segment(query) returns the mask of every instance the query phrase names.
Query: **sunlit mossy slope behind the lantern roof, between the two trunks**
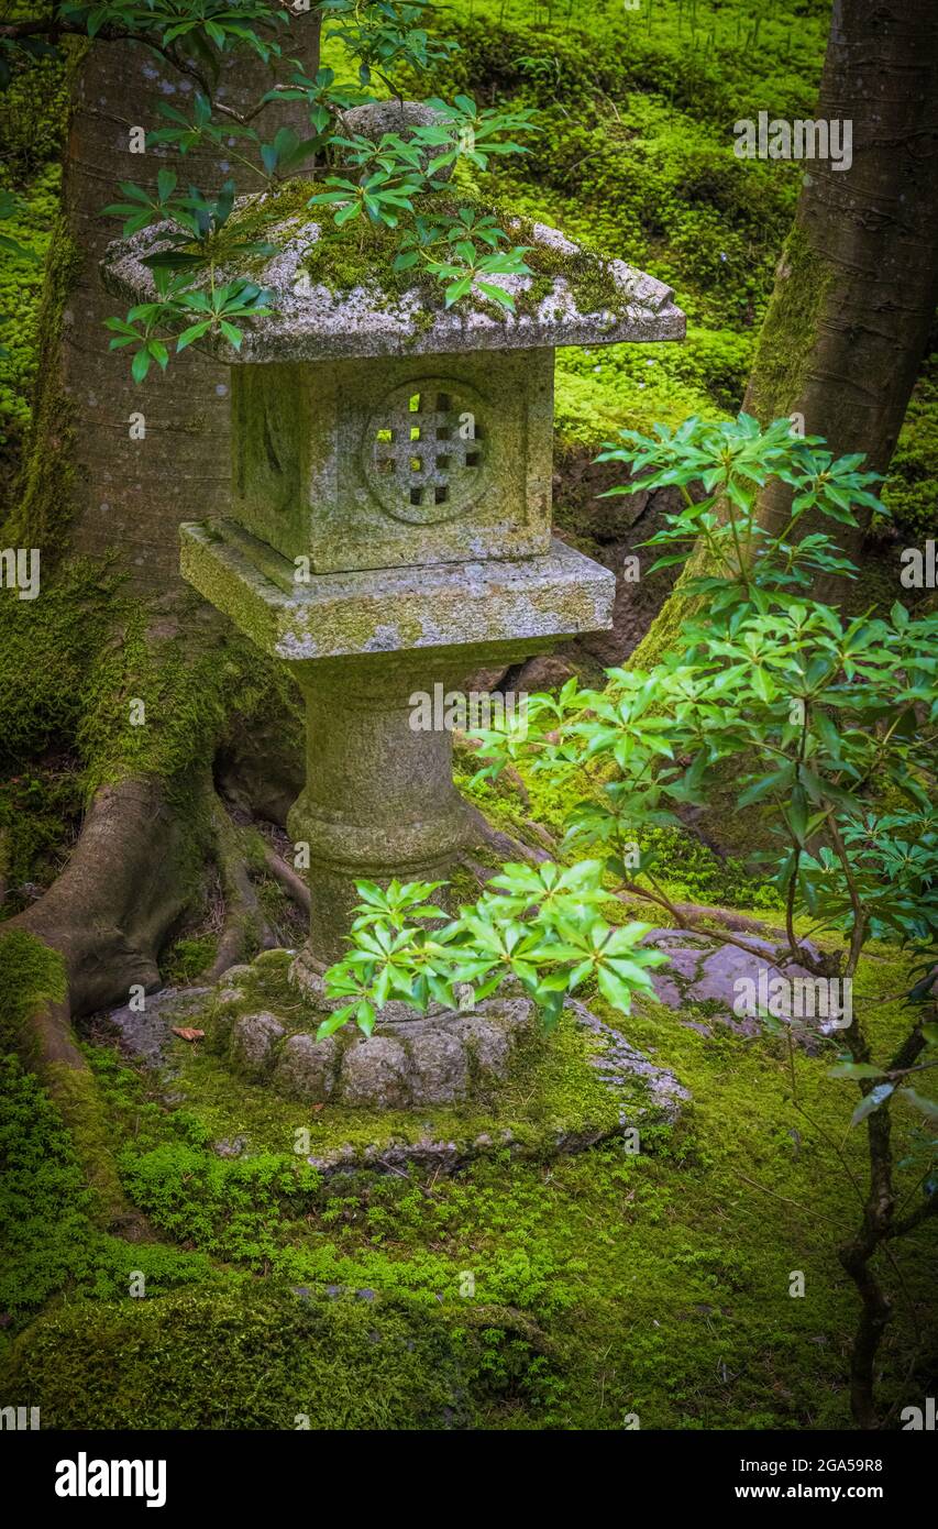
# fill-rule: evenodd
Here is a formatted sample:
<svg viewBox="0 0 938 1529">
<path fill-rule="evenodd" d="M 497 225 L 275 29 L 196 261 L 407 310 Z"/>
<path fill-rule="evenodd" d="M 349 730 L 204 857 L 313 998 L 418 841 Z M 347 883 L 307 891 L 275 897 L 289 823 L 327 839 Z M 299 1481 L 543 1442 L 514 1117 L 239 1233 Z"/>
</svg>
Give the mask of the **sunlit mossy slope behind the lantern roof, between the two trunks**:
<svg viewBox="0 0 938 1529">
<path fill-rule="evenodd" d="M 437 93 L 539 112 L 530 153 L 492 161 L 486 194 L 668 281 L 689 317 L 681 346 L 558 356 L 558 434 L 587 446 L 622 425 L 736 411 L 799 168 L 736 159 L 729 124 L 753 99 L 808 115 L 828 28 L 819 8 L 797 28 L 762 17 L 753 49 L 749 24 L 707 0 L 651 11 L 551 24 L 529 5 L 509 15 L 483 0 L 446 18 L 460 52 L 434 76 Z"/>
</svg>

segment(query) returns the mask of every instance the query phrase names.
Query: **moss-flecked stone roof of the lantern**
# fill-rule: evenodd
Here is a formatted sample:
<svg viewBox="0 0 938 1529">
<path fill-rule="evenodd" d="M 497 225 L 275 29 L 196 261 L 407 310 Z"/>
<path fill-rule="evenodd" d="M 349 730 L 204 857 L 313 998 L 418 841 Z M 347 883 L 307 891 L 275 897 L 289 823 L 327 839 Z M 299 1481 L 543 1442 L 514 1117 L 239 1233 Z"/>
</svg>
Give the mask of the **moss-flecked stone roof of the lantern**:
<svg viewBox="0 0 938 1529">
<path fill-rule="evenodd" d="M 290 182 L 244 197 L 218 235 L 215 280 L 247 275 L 270 294 L 273 309 L 249 324 L 240 352 L 222 335 L 208 335 L 202 349 L 218 359 L 318 361 L 683 338 L 684 315 L 665 283 L 582 249 L 556 229 L 449 190 L 417 199 L 416 211 L 495 213 L 509 239 L 527 249 L 532 274 L 490 278 L 512 294 L 513 312 L 478 291 L 446 309 L 445 283 L 431 272 L 394 271 L 400 228 L 361 219 L 342 228 L 316 222 L 309 209 L 313 191 L 309 182 Z M 133 303 L 150 300 L 145 260 L 165 234 L 162 225 L 112 245 L 102 261 L 107 287 Z M 226 249 L 261 237 L 277 246 L 273 257 L 226 260 Z"/>
</svg>

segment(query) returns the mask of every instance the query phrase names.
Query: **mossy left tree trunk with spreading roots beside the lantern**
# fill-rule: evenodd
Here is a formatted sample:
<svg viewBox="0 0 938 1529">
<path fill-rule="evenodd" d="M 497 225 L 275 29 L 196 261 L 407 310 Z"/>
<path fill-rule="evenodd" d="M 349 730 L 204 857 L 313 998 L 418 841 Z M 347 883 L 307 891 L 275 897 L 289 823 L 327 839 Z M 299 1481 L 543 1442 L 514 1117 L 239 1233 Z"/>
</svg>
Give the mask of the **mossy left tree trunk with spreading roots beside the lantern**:
<svg viewBox="0 0 938 1529">
<path fill-rule="evenodd" d="M 309 75 L 318 69 L 319 26 L 321 15 L 312 12 L 296 17 L 290 29 L 287 52 Z M 220 774 L 235 794 L 243 797 L 246 783 L 261 781 L 258 812 L 264 813 L 270 800 L 289 801 L 290 786 L 292 795 L 299 789 L 301 732 L 275 729 L 264 768 L 258 754 L 269 737 L 261 729 L 254 740 L 231 722 L 235 708 L 243 708 L 246 687 L 263 691 L 264 665 L 240 651 L 214 612 L 192 612 L 194 596 L 179 576 L 179 523 L 226 505 L 228 368 L 192 349 L 174 358 L 165 378 L 154 368 L 134 387 L 127 355 L 108 350 L 104 320 L 116 307 L 98 277 L 107 243 L 119 235 L 119 223 L 101 209 L 119 199 L 121 180 L 151 188 L 160 167 L 173 164 L 183 183 L 188 179 L 212 191 L 234 167 L 196 153 L 180 165 L 176 157 L 130 151 L 131 128 L 163 124 L 160 101 L 185 109 L 196 93 L 192 80 L 151 49 L 127 41 L 81 44 L 70 60 L 70 80 L 63 203 L 46 274 L 32 428 L 3 544 L 41 549 L 40 604 L 50 598 L 53 569 L 63 576 L 70 564 L 99 566 L 101 578 L 105 570 L 122 575 L 122 592 L 110 630 L 86 664 L 89 694 L 98 685 L 87 705 L 107 716 L 107 725 L 98 737 L 96 719 L 86 716 L 72 739 L 90 786 L 81 833 L 49 891 L 3 928 L 0 985 L 20 982 L 9 968 L 15 940 L 37 940 L 57 953 L 63 992 L 50 998 L 41 985 L 32 991 L 26 983 L 17 1044 L 53 1087 L 79 1148 L 89 1144 L 82 1150 L 89 1179 L 107 1183 L 102 1205 L 113 1219 L 119 1190 L 113 1167 L 102 1177 L 99 1104 L 72 1021 L 127 1003 L 133 985 L 147 991 L 160 985 L 160 948 L 197 899 L 206 859 L 214 858 L 223 885 L 244 888 L 232 836 L 220 827 L 212 778 L 218 746 L 226 748 Z M 238 52 L 225 63 L 217 93 L 244 112 L 273 83 L 272 70 Z M 266 109 L 258 119 L 264 136 L 296 110 L 295 104 Z M 306 119 L 296 125 L 309 131 Z M 240 191 L 257 190 L 241 176 L 237 182 Z M 139 431 L 131 436 L 131 413 L 144 416 L 142 439 L 133 437 Z M 189 725 L 185 711 L 192 676 L 208 691 L 200 725 Z M 147 708 L 139 729 L 127 726 L 134 697 Z M 258 709 L 286 716 L 273 683 Z M 238 936 L 241 943 L 247 937 L 264 942 L 264 930 L 254 928 L 257 905 L 243 896 L 238 911 L 238 930 L 226 924 L 231 960 L 240 954 Z"/>
</svg>

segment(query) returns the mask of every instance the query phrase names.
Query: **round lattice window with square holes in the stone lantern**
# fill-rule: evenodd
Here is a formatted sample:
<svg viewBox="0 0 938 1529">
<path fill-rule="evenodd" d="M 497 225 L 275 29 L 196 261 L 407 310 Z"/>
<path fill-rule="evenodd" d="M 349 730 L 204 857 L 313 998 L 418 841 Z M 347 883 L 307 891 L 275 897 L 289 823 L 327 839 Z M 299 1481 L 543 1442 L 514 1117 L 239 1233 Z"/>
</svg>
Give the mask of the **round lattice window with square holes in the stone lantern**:
<svg viewBox="0 0 938 1529">
<path fill-rule="evenodd" d="M 448 505 L 484 460 L 484 430 L 451 393 L 416 391 L 374 431 L 374 468 L 411 506 Z"/>
</svg>

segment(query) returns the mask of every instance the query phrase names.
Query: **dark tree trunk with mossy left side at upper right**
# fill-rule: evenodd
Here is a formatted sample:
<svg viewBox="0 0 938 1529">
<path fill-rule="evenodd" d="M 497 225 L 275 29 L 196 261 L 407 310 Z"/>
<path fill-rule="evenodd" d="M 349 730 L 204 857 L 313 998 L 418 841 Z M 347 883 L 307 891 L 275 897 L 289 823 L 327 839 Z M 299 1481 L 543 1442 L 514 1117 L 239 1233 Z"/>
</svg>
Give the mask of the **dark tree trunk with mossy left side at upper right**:
<svg viewBox="0 0 938 1529">
<path fill-rule="evenodd" d="M 938 303 L 935 0 L 834 0 L 817 118 L 852 122 L 852 164 L 805 164 L 742 407 L 764 425 L 802 414 L 885 472 Z M 773 483 L 765 523 L 788 502 Z M 863 532 L 837 541 L 856 558 Z"/>
</svg>

